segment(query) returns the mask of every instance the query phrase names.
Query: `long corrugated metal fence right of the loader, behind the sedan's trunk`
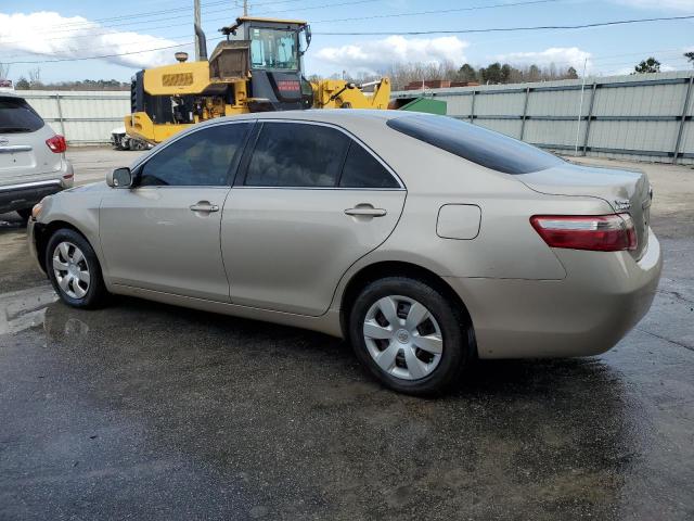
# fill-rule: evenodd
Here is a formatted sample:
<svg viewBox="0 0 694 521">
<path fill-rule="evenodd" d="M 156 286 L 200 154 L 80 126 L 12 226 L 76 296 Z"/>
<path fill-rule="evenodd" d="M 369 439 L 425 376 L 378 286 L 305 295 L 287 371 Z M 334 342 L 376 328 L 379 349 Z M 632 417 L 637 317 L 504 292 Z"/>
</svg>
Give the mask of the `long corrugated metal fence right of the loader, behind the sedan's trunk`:
<svg viewBox="0 0 694 521">
<path fill-rule="evenodd" d="M 571 154 L 694 164 L 694 73 L 433 89 L 448 114 Z M 421 96 L 394 92 L 394 98 Z M 580 117 L 579 117 L 580 114 Z"/>
</svg>

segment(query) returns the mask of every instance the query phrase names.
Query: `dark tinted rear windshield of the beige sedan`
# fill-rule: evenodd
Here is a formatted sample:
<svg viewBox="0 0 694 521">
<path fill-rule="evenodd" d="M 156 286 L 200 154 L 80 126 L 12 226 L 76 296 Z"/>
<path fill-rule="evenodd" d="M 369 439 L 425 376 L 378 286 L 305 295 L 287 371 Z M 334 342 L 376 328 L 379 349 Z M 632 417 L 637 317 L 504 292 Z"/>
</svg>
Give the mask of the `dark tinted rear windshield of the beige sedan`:
<svg viewBox="0 0 694 521">
<path fill-rule="evenodd" d="M 389 119 L 402 134 L 505 174 L 529 174 L 563 163 L 536 147 L 452 117 L 417 114 Z"/>
</svg>

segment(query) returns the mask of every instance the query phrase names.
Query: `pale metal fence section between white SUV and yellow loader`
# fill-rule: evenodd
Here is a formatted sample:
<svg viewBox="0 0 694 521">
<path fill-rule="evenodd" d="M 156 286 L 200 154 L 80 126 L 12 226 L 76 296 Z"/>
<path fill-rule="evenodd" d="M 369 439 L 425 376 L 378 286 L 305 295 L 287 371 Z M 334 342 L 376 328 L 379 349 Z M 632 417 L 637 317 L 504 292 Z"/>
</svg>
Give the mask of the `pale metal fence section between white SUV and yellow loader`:
<svg viewBox="0 0 694 521">
<path fill-rule="evenodd" d="M 99 144 L 130 113 L 127 91 L 17 90 L 69 144 Z"/>
</svg>

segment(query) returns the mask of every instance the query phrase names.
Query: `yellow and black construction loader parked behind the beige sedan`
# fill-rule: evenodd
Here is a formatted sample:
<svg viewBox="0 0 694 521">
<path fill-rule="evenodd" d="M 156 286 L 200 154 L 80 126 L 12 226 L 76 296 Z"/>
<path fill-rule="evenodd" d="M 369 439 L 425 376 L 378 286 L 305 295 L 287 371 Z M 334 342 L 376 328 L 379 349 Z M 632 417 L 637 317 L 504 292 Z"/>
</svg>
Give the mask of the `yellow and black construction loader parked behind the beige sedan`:
<svg viewBox="0 0 694 521">
<path fill-rule="evenodd" d="M 177 52 L 179 63 L 136 74 L 132 113 L 125 117 L 129 136 L 158 143 L 190 125 L 220 116 L 388 106 L 388 78 L 362 86 L 340 79 L 305 78 L 303 55 L 311 42 L 311 28 L 306 22 L 242 16 L 220 31 L 226 40 L 209 59 L 205 34 L 196 23 L 198 61 L 188 61 L 188 53 Z"/>
</svg>

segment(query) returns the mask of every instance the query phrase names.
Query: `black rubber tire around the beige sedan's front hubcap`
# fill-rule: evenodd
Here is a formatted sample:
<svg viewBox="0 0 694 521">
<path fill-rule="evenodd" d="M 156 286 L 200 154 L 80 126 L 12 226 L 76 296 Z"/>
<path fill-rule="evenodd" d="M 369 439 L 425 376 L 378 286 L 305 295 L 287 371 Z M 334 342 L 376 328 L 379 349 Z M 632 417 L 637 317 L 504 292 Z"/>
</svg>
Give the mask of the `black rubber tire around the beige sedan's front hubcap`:
<svg viewBox="0 0 694 521">
<path fill-rule="evenodd" d="M 59 283 L 55 270 L 53 269 L 53 256 L 61 243 L 69 243 L 77 246 L 83 255 L 83 260 L 79 262 L 78 267 L 87 268 L 90 280 L 86 293 L 82 296 L 69 295 Z M 97 254 L 91 247 L 91 244 L 89 244 L 89 241 L 75 230 L 63 228 L 51 236 L 46 247 L 46 271 L 53 284 L 53 289 L 65 304 L 85 309 L 94 309 L 105 304 L 108 292 L 106 291 L 106 285 L 104 284 L 104 279 L 101 274 L 99 258 L 97 258 Z"/>
</svg>

